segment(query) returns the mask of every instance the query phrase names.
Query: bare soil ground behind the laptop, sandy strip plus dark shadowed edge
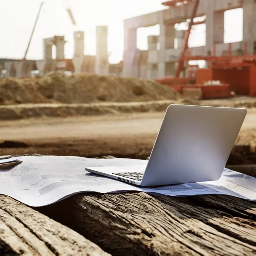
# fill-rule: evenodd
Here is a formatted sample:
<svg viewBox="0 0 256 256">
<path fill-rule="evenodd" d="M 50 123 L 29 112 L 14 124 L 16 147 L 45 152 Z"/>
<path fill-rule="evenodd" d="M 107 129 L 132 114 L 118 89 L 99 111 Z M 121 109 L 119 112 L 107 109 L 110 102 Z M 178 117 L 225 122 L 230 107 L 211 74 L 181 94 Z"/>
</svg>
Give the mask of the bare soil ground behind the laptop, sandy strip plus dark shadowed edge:
<svg viewBox="0 0 256 256">
<path fill-rule="evenodd" d="M 132 113 L 3 121 L 0 123 L 0 155 L 113 155 L 145 159 L 150 155 L 163 114 Z M 249 109 L 228 163 L 256 163 L 255 145 L 256 109 Z"/>
</svg>

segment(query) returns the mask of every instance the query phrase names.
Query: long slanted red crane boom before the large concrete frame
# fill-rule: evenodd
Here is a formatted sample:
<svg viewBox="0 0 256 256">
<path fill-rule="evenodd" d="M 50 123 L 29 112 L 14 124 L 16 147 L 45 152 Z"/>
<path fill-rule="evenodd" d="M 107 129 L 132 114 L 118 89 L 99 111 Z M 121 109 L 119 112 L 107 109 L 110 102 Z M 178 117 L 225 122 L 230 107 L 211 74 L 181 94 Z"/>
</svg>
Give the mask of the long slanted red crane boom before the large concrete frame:
<svg viewBox="0 0 256 256">
<path fill-rule="evenodd" d="M 195 18 L 196 12 L 198 10 L 199 2 L 200 2 L 200 0 L 195 0 L 192 15 L 191 15 L 190 22 L 189 22 L 189 27 L 188 27 L 188 30 L 186 31 L 186 35 L 185 35 L 184 42 L 183 42 L 183 47 L 180 52 L 178 67 L 177 67 L 176 74 L 175 74 L 175 77 L 177 77 L 177 78 L 180 76 L 180 72 L 183 69 L 184 57 L 185 57 L 186 50 L 188 49 L 189 35 L 190 35 L 191 29 L 192 29 L 193 20 Z"/>
</svg>

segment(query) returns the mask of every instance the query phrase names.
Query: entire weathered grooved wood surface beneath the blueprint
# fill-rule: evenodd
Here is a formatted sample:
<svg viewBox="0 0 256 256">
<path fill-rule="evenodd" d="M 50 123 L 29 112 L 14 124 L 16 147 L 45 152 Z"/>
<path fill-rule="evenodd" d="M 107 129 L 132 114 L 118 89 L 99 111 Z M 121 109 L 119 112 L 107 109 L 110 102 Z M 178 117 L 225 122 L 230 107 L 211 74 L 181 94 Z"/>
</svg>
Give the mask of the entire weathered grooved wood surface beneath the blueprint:
<svg viewBox="0 0 256 256">
<path fill-rule="evenodd" d="M 256 203 L 229 196 L 84 193 L 35 209 L 0 196 L 0 255 L 256 254 Z"/>
</svg>

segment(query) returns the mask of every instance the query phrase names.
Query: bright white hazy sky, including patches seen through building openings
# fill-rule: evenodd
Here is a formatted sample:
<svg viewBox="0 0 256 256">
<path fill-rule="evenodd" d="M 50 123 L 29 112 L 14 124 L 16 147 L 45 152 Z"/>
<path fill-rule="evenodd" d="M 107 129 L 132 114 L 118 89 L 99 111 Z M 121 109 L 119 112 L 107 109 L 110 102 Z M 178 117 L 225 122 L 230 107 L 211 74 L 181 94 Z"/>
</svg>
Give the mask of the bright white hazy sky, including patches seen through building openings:
<svg viewBox="0 0 256 256">
<path fill-rule="evenodd" d="M 23 58 L 42 0 L 0 0 L 0 58 Z M 43 38 L 65 35 L 65 57 L 73 56 L 73 31 L 85 32 L 85 50 L 96 53 L 95 27 L 108 26 L 109 61 L 122 60 L 124 48 L 123 20 L 155 12 L 165 7 L 163 0 L 45 0 L 27 59 L 43 58 Z M 67 15 L 70 6 L 78 24 L 74 27 Z M 235 29 L 236 28 L 236 29 Z M 159 35 L 159 26 L 137 30 L 137 47 L 147 49 L 147 35 Z M 242 9 L 225 12 L 224 41 L 242 40 Z M 193 29 L 190 46 L 205 44 L 205 25 Z"/>
</svg>

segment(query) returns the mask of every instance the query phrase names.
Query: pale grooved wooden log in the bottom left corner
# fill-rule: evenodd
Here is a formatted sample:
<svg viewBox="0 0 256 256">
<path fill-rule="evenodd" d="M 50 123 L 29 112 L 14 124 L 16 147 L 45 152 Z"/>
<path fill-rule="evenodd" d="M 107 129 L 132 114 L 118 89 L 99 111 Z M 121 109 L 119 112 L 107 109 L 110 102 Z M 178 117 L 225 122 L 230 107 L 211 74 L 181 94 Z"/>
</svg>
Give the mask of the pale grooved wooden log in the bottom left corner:
<svg viewBox="0 0 256 256">
<path fill-rule="evenodd" d="M 70 228 L 0 195 L 0 255 L 22 254 L 109 255 Z"/>
</svg>

